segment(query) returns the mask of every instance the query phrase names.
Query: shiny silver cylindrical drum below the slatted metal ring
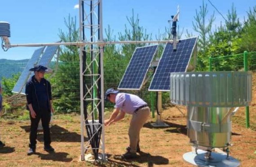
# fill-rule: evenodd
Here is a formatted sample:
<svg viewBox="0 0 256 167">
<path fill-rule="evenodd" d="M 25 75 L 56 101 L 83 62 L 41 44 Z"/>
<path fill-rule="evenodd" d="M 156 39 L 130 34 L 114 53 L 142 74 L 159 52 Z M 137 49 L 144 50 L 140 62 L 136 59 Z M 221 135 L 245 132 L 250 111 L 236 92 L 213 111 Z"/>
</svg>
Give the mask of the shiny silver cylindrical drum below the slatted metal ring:
<svg viewBox="0 0 256 167">
<path fill-rule="evenodd" d="M 187 135 L 190 142 L 210 148 L 229 146 L 230 117 L 226 107 L 188 107 Z"/>
</svg>

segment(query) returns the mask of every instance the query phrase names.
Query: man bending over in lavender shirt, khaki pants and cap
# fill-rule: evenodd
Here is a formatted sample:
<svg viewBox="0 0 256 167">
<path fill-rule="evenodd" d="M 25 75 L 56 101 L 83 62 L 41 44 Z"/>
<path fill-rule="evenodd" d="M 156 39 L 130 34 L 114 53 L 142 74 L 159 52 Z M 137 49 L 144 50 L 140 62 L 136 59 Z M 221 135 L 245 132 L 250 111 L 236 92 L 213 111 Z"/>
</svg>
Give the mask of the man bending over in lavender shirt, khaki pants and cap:
<svg viewBox="0 0 256 167">
<path fill-rule="evenodd" d="M 150 116 L 148 104 L 134 94 L 119 93 L 119 90 L 110 88 L 106 90 L 105 99 L 115 103 L 115 109 L 110 118 L 104 121 L 106 126 L 122 120 L 125 113 L 132 115 L 128 130 L 130 144 L 126 153 L 121 157 L 125 159 L 136 158 L 136 152 L 140 152 L 140 131 Z"/>
</svg>

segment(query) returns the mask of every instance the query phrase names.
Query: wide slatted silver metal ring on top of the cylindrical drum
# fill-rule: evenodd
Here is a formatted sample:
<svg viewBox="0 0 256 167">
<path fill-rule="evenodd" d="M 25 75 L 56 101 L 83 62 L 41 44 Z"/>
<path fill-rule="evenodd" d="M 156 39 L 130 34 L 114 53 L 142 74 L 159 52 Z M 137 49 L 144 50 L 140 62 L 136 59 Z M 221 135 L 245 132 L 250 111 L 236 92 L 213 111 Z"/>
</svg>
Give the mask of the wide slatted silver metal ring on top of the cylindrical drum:
<svg viewBox="0 0 256 167">
<path fill-rule="evenodd" d="M 197 107 L 241 107 L 252 100 L 248 72 L 171 73 L 171 102 Z"/>
</svg>

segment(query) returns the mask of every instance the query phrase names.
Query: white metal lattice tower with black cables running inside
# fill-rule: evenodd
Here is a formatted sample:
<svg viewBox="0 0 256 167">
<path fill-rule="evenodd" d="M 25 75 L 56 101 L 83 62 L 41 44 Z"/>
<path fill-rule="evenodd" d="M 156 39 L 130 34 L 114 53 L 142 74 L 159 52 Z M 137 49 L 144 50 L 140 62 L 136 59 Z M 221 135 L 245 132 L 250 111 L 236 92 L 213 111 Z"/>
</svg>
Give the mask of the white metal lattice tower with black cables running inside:
<svg viewBox="0 0 256 167">
<path fill-rule="evenodd" d="M 92 43 L 80 47 L 79 53 L 81 160 L 84 160 L 84 152 L 89 145 L 95 159 L 99 157 L 99 150 L 105 159 L 102 0 L 79 0 L 79 32 L 80 42 Z M 87 142 L 84 142 L 84 128 Z"/>
</svg>

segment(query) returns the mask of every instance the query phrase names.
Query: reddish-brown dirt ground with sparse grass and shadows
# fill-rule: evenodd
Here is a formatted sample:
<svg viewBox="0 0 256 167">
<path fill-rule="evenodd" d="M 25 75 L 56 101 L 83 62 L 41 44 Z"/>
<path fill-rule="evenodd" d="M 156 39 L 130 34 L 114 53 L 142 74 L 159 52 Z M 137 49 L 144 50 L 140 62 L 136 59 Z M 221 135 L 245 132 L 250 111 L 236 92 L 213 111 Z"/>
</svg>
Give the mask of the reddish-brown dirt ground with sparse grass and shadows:
<svg viewBox="0 0 256 167">
<path fill-rule="evenodd" d="M 65 118 L 65 117 L 64 117 Z M 182 155 L 191 151 L 186 136 L 185 118 L 164 120 L 168 128 L 153 128 L 150 121 L 141 130 L 141 150 L 138 158 L 120 160 L 114 155 L 125 152 L 128 146 L 128 123 L 130 117 L 106 127 L 106 154 L 108 167 L 191 167 Z M 51 124 L 52 146 L 55 153 L 43 150 L 43 133 L 38 133 L 36 154 L 26 155 L 29 142 L 29 121 L 0 120 L 0 137 L 6 144 L 0 148 L 0 167 L 80 167 L 103 166 L 80 162 L 79 116 L 67 116 Z M 230 155 L 237 158 L 242 167 L 256 167 L 256 131 L 232 125 Z"/>
</svg>

